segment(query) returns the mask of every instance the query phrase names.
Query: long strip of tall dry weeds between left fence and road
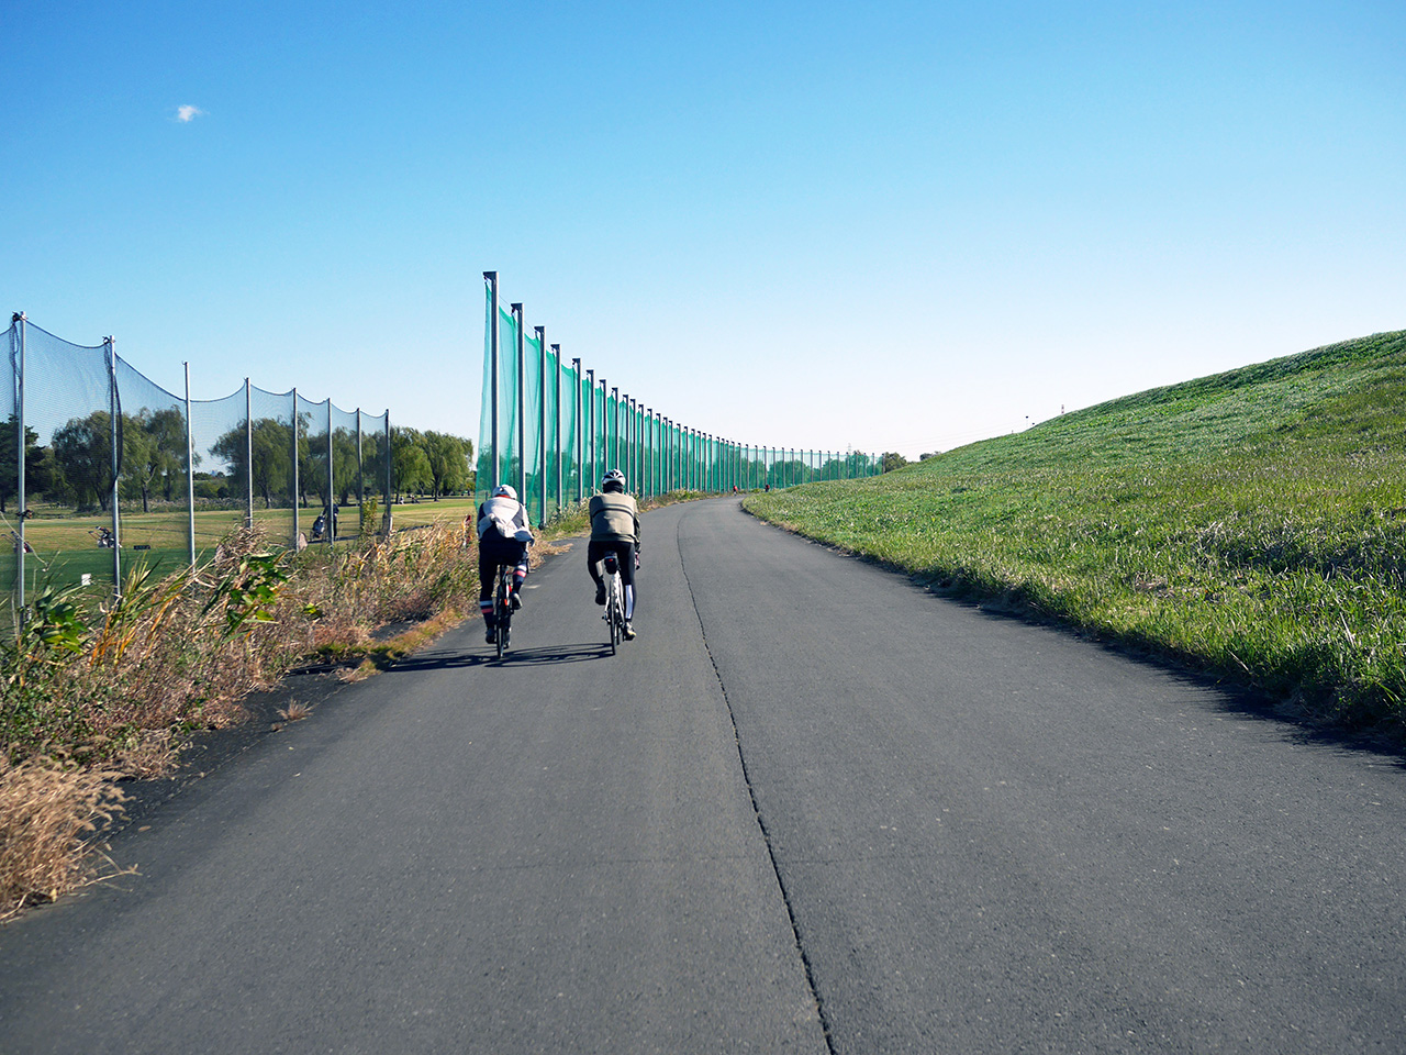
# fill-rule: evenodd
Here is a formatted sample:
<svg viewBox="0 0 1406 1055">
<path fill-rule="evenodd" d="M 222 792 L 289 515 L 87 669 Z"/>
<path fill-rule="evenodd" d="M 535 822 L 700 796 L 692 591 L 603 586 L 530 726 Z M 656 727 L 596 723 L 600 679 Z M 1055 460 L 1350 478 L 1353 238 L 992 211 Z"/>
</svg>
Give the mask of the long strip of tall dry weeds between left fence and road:
<svg viewBox="0 0 1406 1055">
<path fill-rule="evenodd" d="M 233 581 L 253 591 L 260 580 L 249 561 L 264 551 L 257 530 L 242 530 L 198 573 L 156 581 L 134 571 L 121 602 L 90 620 L 82 650 L 45 664 L 45 702 L 28 706 L 52 715 L 32 722 L 27 740 L 0 730 L 10 761 L 60 744 L 159 775 L 176 760 L 173 731 L 235 724 L 245 719 L 240 699 L 305 658 L 366 654 L 377 627 L 457 616 L 477 596 L 477 554 L 456 529 L 429 526 L 330 557 L 284 557 L 276 574 L 287 581 L 273 582 L 266 601 L 242 602 L 262 610 L 232 629 L 221 589 Z"/>
</svg>

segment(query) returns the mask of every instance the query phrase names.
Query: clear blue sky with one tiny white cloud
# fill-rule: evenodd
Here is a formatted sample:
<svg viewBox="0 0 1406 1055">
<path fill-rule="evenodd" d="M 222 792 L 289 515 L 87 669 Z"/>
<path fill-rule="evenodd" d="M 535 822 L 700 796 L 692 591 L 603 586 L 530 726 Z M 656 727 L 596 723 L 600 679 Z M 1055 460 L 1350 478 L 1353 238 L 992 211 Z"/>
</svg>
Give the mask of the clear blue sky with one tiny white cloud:
<svg viewBox="0 0 1406 1055">
<path fill-rule="evenodd" d="M 477 436 L 484 270 L 744 443 L 1406 328 L 1406 6 L 0 0 L 0 307 Z M 186 110 L 183 110 L 186 108 Z"/>
</svg>

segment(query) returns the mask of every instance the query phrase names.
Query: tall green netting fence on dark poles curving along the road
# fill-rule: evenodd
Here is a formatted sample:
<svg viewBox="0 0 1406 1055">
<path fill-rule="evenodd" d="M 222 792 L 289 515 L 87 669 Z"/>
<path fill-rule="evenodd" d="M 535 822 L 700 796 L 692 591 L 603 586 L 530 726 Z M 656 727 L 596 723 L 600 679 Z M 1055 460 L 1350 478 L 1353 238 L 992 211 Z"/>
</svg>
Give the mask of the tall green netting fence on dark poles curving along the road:
<svg viewBox="0 0 1406 1055">
<path fill-rule="evenodd" d="M 883 471 L 876 454 L 763 447 L 675 422 L 623 394 L 581 360 L 529 333 L 523 305 L 498 298 L 485 271 L 484 374 L 475 497 L 517 488 L 537 523 L 595 494 L 610 468 L 638 498 L 669 491 L 724 492 L 853 480 Z"/>
</svg>

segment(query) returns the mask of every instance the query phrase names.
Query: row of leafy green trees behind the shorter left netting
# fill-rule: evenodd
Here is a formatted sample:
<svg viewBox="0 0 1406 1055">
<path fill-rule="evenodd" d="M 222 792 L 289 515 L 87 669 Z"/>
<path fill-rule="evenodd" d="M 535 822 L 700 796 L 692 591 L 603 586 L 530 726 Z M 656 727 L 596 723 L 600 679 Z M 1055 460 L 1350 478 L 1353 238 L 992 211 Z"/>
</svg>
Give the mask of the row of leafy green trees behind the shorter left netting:
<svg viewBox="0 0 1406 1055">
<path fill-rule="evenodd" d="M 385 436 L 357 437 L 350 429 L 332 432 L 332 478 L 329 494 L 328 433 L 311 432 L 309 415 L 298 428 L 297 497 L 294 490 L 292 425 L 276 418 L 260 418 L 246 435 L 245 423 L 222 435 L 209 447 L 209 456 L 222 463 L 221 470 L 201 470 L 205 460 L 194 454 L 194 491 L 197 499 L 239 502 L 253 481 L 254 501 L 264 508 L 298 505 L 352 505 L 361 494 L 385 495 Z M 18 495 L 17 466 L 18 421 L 11 415 L 0 422 L 0 513 L 7 512 Z M 94 411 L 73 418 L 58 429 L 48 446 L 39 446 L 38 433 L 25 426 L 25 495 L 31 504 L 72 505 L 76 511 L 107 511 L 112 499 L 112 416 Z M 141 502 L 150 511 L 153 501 L 186 504 L 186 419 L 176 409 L 118 415 L 117 490 L 124 504 Z M 406 495 L 439 499 L 472 491 L 474 443 L 461 436 L 408 428 L 391 430 L 389 491 L 399 501 Z"/>
</svg>

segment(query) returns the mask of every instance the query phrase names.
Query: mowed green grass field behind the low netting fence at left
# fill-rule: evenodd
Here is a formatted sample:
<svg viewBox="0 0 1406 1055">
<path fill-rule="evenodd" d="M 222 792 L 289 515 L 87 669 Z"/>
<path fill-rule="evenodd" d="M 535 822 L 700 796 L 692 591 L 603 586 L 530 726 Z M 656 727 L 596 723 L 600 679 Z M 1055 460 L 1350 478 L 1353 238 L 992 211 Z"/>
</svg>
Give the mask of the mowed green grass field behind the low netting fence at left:
<svg viewBox="0 0 1406 1055">
<path fill-rule="evenodd" d="M 75 516 L 70 509 L 35 506 L 37 516 L 25 525 L 24 537 L 32 547 L 25 556 L 25 587 L 35 591 L 42 585 L 67 587 L 82 582 L 84 574 L 94 587 L 112 584 L 112 550 L 98 549 L 100 529 L 111 529 L 111 513 Z M 461 523 L 474 509 L 472 498 L 441 498 L 440 501 L 404 502 L 392 506 L 396 529 L 430 523 Z M 312 522 L 319 509 L 298 511 L 298 529 L 312 535 Z M 259 523 L 276 544 L 292 542 L 292 509 L 260 509 L 254 506 Z M 378 515 L 380 519 L 380 515 Z M 219 540 L 242 528 L 243 509 L 211 509 L 195 512 L 197 560 L 207 560 Z M 122 568 L 145 563 L 160 574 L 190 563 L 188 515 L 184 509 L 142 513 L 121 511 Z M 360 511 L 344 506 L 337 511 L 337 540 L 352 542 L 359 536 Z M 14 585 L 17 561 L 13 544 L 0 547 L 0 589 Z"/>
</svg>

